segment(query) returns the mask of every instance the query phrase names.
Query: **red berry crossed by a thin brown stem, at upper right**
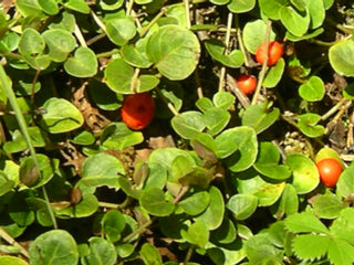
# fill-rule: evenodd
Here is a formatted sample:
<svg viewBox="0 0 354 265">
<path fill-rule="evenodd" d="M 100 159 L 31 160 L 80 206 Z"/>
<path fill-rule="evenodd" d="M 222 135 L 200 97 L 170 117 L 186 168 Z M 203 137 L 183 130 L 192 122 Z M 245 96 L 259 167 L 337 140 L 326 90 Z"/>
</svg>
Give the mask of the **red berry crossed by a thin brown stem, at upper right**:
<svg viewBox="0 0 354 265">
<path fill-rule="evenodd" d="M 277 64 L 278 60 L 283 55 L 283 45 L 277 41 L 272 41 L 268 46 L 267 65 L 272 66 Z M 263 64 L 266 60 L 266 43 L 262 43 L 256 51 L 256 61 Z"/>
</svg>

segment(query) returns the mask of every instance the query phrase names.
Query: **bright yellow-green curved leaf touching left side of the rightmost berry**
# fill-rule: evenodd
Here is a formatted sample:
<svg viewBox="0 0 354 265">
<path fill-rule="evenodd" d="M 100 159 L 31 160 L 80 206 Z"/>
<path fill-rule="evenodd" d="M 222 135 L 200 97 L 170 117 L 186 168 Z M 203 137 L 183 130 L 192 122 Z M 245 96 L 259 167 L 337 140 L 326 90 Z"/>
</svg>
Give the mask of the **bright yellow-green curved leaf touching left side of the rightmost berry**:
<svg viewBox="0 0 354 265">
<path fill-rule="evenodd" d="M 287 165 L 292 170 L 291 184 L 298 194 L 305 194 L 314 190 L 320 183 L 319 170 L 315 163 L 302 153 L 290 153 Z"/>
</svg>

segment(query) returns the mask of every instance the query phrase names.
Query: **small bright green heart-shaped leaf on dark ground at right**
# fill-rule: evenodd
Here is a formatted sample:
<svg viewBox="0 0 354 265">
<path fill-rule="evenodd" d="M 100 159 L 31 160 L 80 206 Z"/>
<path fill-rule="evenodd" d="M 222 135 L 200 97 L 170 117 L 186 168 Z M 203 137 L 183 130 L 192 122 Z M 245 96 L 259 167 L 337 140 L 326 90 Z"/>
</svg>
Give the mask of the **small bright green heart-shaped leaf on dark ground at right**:
<svg viewBox="0 0 354 265">
<path fill-rule="evenodd" d="M 320 102 L 324 96 L 324 83 L 319 76 L 311 76 L 299 87 L 299 94 L 308 102 Z"/>
</svg>

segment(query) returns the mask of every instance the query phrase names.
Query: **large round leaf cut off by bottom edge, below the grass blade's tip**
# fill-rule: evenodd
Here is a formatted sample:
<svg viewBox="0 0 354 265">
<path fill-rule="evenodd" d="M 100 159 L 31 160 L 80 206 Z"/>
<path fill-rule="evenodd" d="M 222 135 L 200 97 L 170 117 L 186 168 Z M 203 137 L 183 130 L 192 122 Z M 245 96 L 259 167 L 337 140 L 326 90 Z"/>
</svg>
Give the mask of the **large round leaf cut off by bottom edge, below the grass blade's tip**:
<svg viewBox="0 0 354 265">
<path fill-rule="evenodd" d="M 63 230 L 42 233 L 31 243 L 29 253 L 31 264 L 63 265 L 79 262 L 75 240 Z"/>
</svg>

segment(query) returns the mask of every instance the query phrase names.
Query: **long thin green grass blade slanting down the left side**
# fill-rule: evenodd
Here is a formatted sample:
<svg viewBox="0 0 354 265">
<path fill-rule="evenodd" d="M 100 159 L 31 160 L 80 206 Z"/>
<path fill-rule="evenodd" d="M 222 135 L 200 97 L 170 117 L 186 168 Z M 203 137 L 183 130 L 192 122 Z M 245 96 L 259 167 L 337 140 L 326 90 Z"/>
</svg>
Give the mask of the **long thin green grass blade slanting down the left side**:
<svg viewBox="0 0 354 265">
<path fill-rule="evenodd" d="M 25 123 L 25 119 L 22 115 L 22 112 L 21 112 L 21 108 L 15 99 L 15 95 L 12 91 L 12 87 L 9 83 L 9 80 L 8 80 L 8 76 L 3 70 L 3 66 L 0 64 L 0 83 L 2 84 L 2 88 L 6 93 L 6 95 L 8 96 L 8 99 L 10 102 L 10 105 L 12 107 L 12 109 L 14 110 L 14 115 L 15 115 L 15 118 L 19 123 L 19 126 L 20 126 L 20 129 L 21 129 L 21 132 L 24 137 L 24 140 L 30 149 L 30 152 L 31 152 L 31 157 L 33 159 L 33 162 L 34 162 L 34 166 L 40 174 L 40 177 L 42 178 L 42 172 L 40 170 L 40 165 L 39 165 L 39 161 L 37 159 L 37 153 L 35 153 L 35 149 L 32 145 L 32 140 L 31 140 L 31 137 L 30 137 L 30 132 L 28 130 L 28 127 L 27 127 L 27 123 Z M 46 210 L 49 211 L 49 214 L 51 216 L 51 220 L 52 220 L 52 223 L 53 223 L 53 226 L 54 229 L 58 229 L 58 225 L 56 225 L 56 220 L 55 220 L 55 216 L 54 216 L 54 213 L 53 213 L 53 210 L 51 208 L 51 204 L 50 204 L 50 201 L 49 201 L 49 198 L 48 198 L 48 194 L 46 194 L 46 190 L 43 186 L 43 195 L 44 195 L 44 200 L 45 200 L 45 205 L 46 205 Z"/>
</svg>

